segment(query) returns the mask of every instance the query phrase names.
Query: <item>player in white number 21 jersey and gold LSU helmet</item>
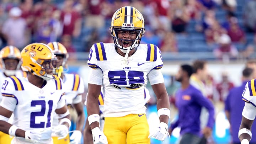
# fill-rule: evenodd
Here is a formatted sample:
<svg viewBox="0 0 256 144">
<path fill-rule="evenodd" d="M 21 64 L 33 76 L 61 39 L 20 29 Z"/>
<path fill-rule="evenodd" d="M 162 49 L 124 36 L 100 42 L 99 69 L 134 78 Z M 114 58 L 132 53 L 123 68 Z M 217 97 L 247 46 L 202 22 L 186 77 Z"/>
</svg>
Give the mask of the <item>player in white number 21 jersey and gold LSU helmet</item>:
<svg viewBox="0 0 256 144">
<path fill-rule="evenodd" d="M 21 52 L 22 70 L 27 78 L 11 76 L 2 85 L 0 131 L 15 138 L 12 144 L 52 144 L 51 134 L 66 137 L 70 126 L 69 111 L 62 98 L 62 80 L 53 77 L 57 71 L 53 51 L 43 43 L 32 43 Z M 58 113 L 58 127 L 52 129 L 53 112 Z M 8 123 L 11 114 L 14 122 Z"/>
</svg>

